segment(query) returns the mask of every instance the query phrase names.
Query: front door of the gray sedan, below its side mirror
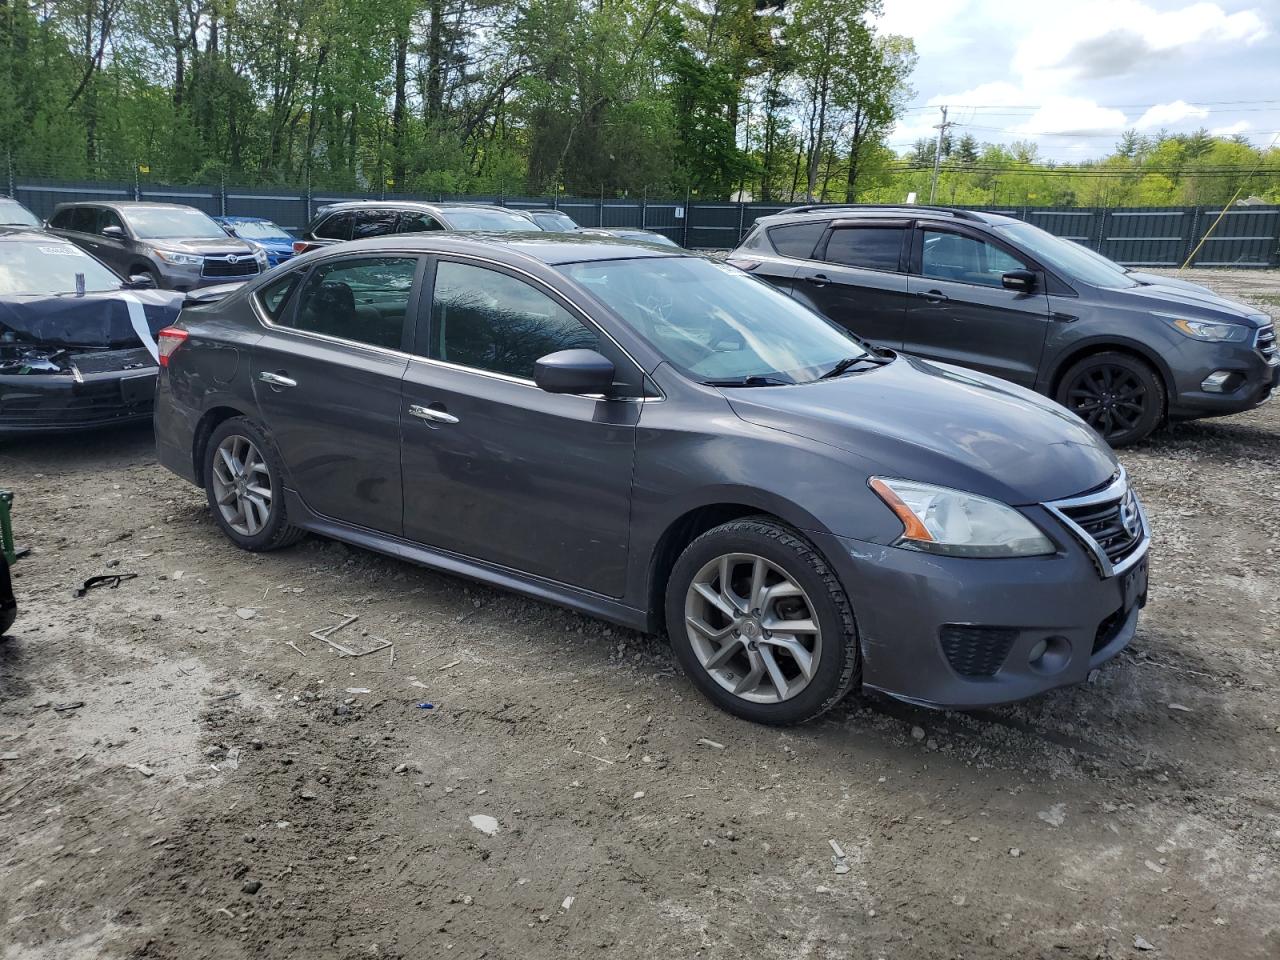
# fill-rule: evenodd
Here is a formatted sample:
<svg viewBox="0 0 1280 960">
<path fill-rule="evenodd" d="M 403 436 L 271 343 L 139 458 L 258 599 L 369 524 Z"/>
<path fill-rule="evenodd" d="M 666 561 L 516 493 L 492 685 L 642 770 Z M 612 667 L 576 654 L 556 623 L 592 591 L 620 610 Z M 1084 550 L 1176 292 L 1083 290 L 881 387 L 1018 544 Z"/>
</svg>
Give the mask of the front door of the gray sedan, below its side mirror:
<svg viewBox="0 0 1280 960">
<path fill-rule="evenodd" d="M 401 411 L 404 536 L 621 596 L 643 404 L 547 393 L 532 376 L 547 353 L 599 349 L 639 396 L 631 361 L 552 291 L 493 265 L 439 260 L 422 314 Z"/>
</svg>

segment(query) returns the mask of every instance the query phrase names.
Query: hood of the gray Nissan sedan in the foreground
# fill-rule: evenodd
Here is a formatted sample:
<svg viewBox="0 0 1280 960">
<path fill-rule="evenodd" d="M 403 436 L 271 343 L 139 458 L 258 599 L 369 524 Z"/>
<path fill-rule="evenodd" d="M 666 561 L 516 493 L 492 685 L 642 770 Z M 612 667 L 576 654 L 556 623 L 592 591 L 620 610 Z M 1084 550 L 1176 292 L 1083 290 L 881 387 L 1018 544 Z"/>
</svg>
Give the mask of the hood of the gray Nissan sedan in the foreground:
<svg viewBox="0 0 1280 960">
<path fill-rule="evenodd" d="M 1044 397 L 918 357 L 832 380 L 722 393 L 742 420 L 838 447 L 877 474 L 1015 506 L 1092 490 L 1120 468 L 1084 421 Z"/>
</svg>

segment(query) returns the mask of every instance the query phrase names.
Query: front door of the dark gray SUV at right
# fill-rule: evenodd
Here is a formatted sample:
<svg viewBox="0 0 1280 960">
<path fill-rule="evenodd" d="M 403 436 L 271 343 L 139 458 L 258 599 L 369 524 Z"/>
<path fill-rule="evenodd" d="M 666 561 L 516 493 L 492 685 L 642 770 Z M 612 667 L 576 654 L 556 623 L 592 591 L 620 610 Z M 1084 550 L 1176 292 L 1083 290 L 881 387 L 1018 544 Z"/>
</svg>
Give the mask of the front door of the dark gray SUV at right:
<svg viewBox="0 0 1280 960">
<path fill-rule="evenodd" d="M 1030 293 L 1004 274 L 1032 270 Z M 1012 247 L 960 224 L 918 224 L 902 349 L 1034 387 L 1048 329 L 1044 273 Z"/>
</svg>

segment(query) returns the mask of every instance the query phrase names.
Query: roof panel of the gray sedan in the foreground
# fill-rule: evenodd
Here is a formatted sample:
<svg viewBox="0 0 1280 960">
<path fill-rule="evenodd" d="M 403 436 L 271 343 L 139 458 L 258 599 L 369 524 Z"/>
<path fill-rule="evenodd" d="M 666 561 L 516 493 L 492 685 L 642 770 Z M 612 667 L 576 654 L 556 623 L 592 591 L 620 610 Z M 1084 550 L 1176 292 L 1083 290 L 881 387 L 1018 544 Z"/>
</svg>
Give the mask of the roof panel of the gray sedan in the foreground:
<svg viewBox="0 0 1280 960">
<path fill-rule="evenodd" d="M 515 253 L 517 257 L 540 260 L 548 266 L 581 264 L 602 260 L 641 260 L 646 257 L 692 256 L 678 247 L 657 247 L 608 237 L 589 237 L 577 233 L 540 233 L 536 230 L 511 233 L 433 232 L 401 233 L 370 239 L 347 241 L 340 246 L 325 247 L 329 252 L 351 253 L 367 250 L 417 250 L 424 253 Z"/>
</svg>

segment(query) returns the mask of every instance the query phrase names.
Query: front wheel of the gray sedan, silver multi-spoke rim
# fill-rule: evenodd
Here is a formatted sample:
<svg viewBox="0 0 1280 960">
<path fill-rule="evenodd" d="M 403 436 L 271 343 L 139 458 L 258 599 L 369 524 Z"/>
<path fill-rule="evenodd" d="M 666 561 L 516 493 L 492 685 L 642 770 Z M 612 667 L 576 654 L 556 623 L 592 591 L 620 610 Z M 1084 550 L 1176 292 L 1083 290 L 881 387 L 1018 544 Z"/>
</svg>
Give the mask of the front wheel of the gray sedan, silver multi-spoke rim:
<svg viewBox="0 0 1280 960">
<path fill-rule="evenodd" d="M 755 723 L 803 723 L 858 682 L 858 627 L 818 549 L 769 517 L 707 531 L 667 584 L 667 634 L 695 686 Z"/>
</svg>

